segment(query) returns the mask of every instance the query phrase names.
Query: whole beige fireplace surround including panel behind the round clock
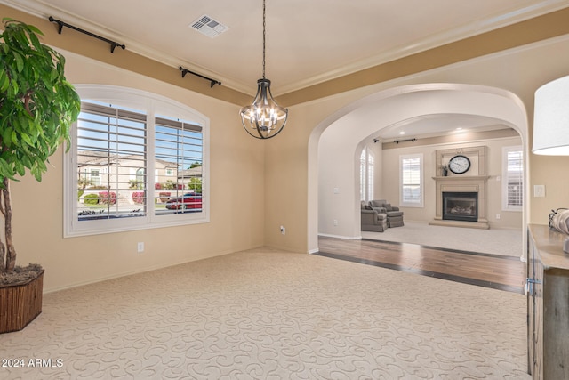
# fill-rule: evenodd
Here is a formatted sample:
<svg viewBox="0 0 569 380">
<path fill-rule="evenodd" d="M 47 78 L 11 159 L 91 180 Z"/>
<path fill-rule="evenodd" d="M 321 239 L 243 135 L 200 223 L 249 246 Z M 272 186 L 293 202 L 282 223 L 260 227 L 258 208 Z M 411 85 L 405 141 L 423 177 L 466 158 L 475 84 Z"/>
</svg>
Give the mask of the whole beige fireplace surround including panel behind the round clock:
<svg viewBox="0 0 569 380">
<path fill-rule="evenodd" d="M 437 150 L 437 169 L 448 164 L 448 160 L 456 154 L 467 156 L 473 166 L 474 174 L 437 175 L 435 180 L 435 218 L 429 222 L 432 225 L 466 227 L 488 230 L 490 224 L 486 218 L 486 182 L 488 175 L 485 170 L 486 147 L 469 147 L 462 149 Z M 437 170 L 437 173 L 440 173 Z M 478 220 L 477 222 L 450 221 L 443 219 L 443 192 L 477 192 Z"/>
</svg>

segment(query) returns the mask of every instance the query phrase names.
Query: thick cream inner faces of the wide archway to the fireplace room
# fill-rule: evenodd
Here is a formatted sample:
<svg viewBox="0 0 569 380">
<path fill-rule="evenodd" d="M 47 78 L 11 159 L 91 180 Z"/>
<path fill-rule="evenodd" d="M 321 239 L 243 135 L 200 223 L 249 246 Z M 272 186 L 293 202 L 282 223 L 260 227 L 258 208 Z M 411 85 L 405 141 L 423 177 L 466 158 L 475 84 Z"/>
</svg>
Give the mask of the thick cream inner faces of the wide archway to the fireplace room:
<svg viewBox="0 0 569 380">
<path fill-rule="evenodd" d="M 359 236 L 359 190 L 357 158 L 365 141 L 374 133 L 391 125 L 416 117 L 437 115 L 470 115 L 490 117 L 502 125 L 508 125 L 519 133 L 524 149 L 524 161 L 528 155 L 528 125 L 525 106 L 508 91 L 481 85 L 422 84 L 390 88 L 369 95 L 339 109 L 314 129 L 309 139 L 309 252 L 317 251 L 318 219 L 333 220 L 336 235 L 354 238 Z M 323 134 L 325 133 L 325 135 Z M 337 144 L 334 153 L 326 154 L 323 144 Z M 320 190 L 318 160 L 329 160 L 334 172 Z M 326 174 L 328 175 L 328 174 Z M 335 175 L 341 176 L 334 177 Z M 528 173 L 525 167 L 525 191 L 523 225 L 527 224 Z M 319 209 L 323 191 L 333 194 L 333 201 Z M 320 199 L 322 200 L 322 199 Z M 322 201 L 320 202 L 322 204 Z"/>
</svg>

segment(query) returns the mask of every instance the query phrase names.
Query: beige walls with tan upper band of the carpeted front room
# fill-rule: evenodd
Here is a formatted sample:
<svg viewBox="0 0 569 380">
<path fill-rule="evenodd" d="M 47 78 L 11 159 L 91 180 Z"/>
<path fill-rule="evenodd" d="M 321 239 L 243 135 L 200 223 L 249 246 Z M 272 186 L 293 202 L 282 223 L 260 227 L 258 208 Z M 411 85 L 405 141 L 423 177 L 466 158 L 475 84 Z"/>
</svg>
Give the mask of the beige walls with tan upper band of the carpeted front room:
<svg viewBox="0 0 569 380">
<path fill-rule="evenodd" d="M 128 50 L 111 54 L 108 45 L 80 34 L 58 35 L 49 21 L 2 4 L 0 12 L 35 24 L 44 30 L 45 42 L 58 50 L 67 49 L 115 67 L 66 53 L 72 82 L 124 85 L 160 93 L 211 118 L 212 222 L 208 224 L 63 239 L 61 151 L 52 158 L 53 167 L 44 182 L 27 177 L 13 183 L 19 263 L 44 264 L 46 290 L 263 244 L 295 252 L 313 250 L 317 247 L 315 183 L 320 133 L 356 108 L 357 101 L 397 85 L 420 83 L 505 89 L 517 94 L 527 109 L 530 141 L 525 142 L 531 147 L 533 92 L 550 80 L 569 75 L 569 11 L 565 9 L 282 96 L 277 101 L 290 111 L 284 132 L 274 141 L 256 141 L 242 131 L 236 117 L 251 96 L 224 86 L 211 89 L 199 78 L 181 79 L 177 68 Z M 546 224 L 551 208 L 569 206 L 569 158 L 528 157 L 528 186 L 546 186 L 545 198 L 529 198 L 528 222 Z M 39 195 L 49 199 L 41 201 L 40 210 Z M 286 227 L 286 235 L 280 233 L 280 225 Z M 146 242 L 142 255 L 136 254 L 138 241 Z"/>
</svg>

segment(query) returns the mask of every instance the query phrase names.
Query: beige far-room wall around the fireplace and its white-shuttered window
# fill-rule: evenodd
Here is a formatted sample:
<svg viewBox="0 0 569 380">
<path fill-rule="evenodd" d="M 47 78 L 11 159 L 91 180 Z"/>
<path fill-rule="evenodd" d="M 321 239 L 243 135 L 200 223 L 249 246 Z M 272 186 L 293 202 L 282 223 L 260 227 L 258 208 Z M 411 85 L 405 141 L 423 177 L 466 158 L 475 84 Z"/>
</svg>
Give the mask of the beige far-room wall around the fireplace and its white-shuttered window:
<svg viewBox="0 0 569 380">
<path fill-rule="evenodd" d="M 424 180 L 424 207 L 401 207 L 405 212 L 405 220 L 430 222 L 435 217 L 435 180 L 432 177 L 440 175 L 435 160 L 436 150 L 460 149 L 475 146 L 486 147 L 486 173 L 489 175 L 486 183 L 486 215 L 491 228 L 521 229 L 522 212 L 504 211 L 501 206 L 501 175 L 502 175 L 502 147 L 521 145 L 519 137 L 503 138 L 496 140 L 472 141 L 461 144 L 423 145 L 401 149 L 383 150 L 383 192 L 381 199 L 388 199 L 393 205 L 399 203 L 399 156 L 405 154 L 423 155 L 423 180 Z M 472 173 L 477 173 L 477 162 L 472 163 Z M 469 175 L 469 174 L 464 174 Z M 500 214 L 500 219 L 496 219 Z M 460 231 L 459 231 L 460 232 Z"/>
</svg>

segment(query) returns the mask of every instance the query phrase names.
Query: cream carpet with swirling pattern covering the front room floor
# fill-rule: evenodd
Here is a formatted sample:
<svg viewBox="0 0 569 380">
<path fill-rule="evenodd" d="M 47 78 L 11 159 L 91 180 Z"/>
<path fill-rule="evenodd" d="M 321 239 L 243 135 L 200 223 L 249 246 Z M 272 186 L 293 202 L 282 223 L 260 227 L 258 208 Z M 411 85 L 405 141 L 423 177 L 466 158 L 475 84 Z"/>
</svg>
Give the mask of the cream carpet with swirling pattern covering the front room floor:
<svg viewBox="0 0 569 380">
<path fill-rule="evenodd" d="M 525 344 L 523 295 L 263 248 L 45 295 L 0 378 L 520 380 Z"/>
</svg>

